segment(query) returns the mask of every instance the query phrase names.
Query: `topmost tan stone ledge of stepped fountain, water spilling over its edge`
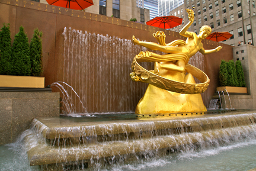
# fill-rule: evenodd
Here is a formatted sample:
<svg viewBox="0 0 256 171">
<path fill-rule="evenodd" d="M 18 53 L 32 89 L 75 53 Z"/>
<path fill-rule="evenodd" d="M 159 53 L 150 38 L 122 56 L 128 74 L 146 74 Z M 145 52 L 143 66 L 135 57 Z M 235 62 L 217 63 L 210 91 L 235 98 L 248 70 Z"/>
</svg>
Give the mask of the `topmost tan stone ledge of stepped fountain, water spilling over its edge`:
<svg viewBox="0 0 256 171">
<path fill-rule="evenodd" d="M 256 110 L 248 111 L 250 114 L 256 113 Z M 40 130 L 40 133 L 46 139 L 69 138 L 69 137 L 87 137 L 93 135 L 108 135 L 108 134 L 126 134 L 137 133 L 141 131 L 157 131 L 176 129 L 180 127 L 189 127 L 193 130 L 199 129 L 199 124 L 206 130 L 215 128 L 223 128 L 223 123 L 229 123 L 228 127 L 236 126 L 241 122 L 241 125 L 246 124 L 244 120 L 248 117 L 244 115 L 245 111 L 235 111 L 226 114 L 206 114 L 200 117 L 169 117 L 169 118 L 143 118 L 142 120 L 126 120 L 126 121 L 100 121 L 100 122 L 83 122 L 86 118 L 78 118 L 70 120 L 68 117 L 50 117 L 50 118 L 35 118 L 33 120 L 34 127 Z M 242 117 L 240 117 L 240 115 Z M 236 120 L 229 120 L 227 117 L 235 115 Z M 226 118 L 220 116 L 227 116 Z M 255 120 L 255 118 L 251 118 Z M 234 124 L 235 123 L 235 124 Z M 233 124 L 233 125 L 232 125 Z M 210 125 L 210 127 L 209 127 Z"/>
</svg>

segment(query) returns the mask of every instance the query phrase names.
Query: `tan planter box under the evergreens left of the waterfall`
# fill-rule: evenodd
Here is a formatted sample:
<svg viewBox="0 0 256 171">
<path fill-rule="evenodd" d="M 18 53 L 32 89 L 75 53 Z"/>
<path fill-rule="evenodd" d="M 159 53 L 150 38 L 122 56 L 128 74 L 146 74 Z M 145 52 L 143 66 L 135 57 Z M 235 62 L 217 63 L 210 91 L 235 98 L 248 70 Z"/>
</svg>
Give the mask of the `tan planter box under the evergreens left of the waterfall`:
<svg viewBox="0 0 256 171">
<path fill-rule="evenodd" d="M 0 87 L 44 88 L 44 77 L 0 75 Z"/>
</svg>

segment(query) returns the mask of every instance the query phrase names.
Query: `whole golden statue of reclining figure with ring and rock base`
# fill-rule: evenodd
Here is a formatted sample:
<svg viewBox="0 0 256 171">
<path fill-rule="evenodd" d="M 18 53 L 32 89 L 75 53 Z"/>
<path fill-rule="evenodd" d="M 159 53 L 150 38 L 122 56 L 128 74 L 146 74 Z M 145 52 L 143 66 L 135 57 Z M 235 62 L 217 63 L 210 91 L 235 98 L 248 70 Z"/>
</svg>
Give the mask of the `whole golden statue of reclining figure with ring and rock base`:
<svg viewBox="0 0 256 171">
<path fill-rule="evenodd" d="M 136 107 L 136 114 L 168 114 L 173 112 L 206 111 L 200 93 L 206 91 L 209 85 L 208 76 L 194 66 L 188 64 L 190 57 L 197 51 L 210 54 L 222 49 L 205 50 L 201 40 L 209 36 L 212 29 L 204 25 L 200 33 L 187 31 L 194 21 L 194 12 L 186 9 L 189 22 L 180 31 L 180 35 L 187 40 L 175 40 L 165 43 L 165 34 L 162 31 L 153 33 L 158 43 L 139 41 L 133 36 L 133 43 L 159 50 L 167 54 L 156 54 L 151 51 L 140 51 L 133 59 L 130 77 L 134 81 L 149 83 L 145 95 Z M 144 69 L 138 62 L 155 62 L 154 70 Z M 185 75 L 185 73 L 188 73 Z M 201 83 L 196 83 L 193 76 Z"/>
</svg>

